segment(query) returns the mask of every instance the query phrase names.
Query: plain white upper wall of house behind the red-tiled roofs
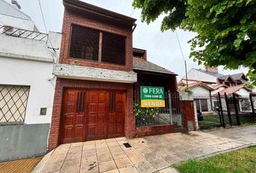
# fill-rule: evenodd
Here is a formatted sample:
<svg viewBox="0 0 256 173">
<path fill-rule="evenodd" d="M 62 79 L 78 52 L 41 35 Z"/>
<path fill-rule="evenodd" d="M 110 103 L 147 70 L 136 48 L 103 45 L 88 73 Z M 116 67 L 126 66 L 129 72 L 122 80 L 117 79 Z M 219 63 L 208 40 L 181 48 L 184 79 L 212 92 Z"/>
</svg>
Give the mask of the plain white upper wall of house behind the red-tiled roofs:
<svg viewBox="0 0 256 173">
<path fill-rule="evenodd" d="M 195 79 L 197 81 L 207 81 L 211 83 L 216 83 L 216 77 L 211 76 L 209 74 L 205 74 L 201 71 L 198 71 L 194 68 L 192 68 L 188 73 L 187 73 L 187 79 Z"/>
</svg>

